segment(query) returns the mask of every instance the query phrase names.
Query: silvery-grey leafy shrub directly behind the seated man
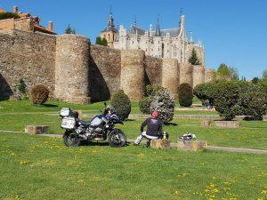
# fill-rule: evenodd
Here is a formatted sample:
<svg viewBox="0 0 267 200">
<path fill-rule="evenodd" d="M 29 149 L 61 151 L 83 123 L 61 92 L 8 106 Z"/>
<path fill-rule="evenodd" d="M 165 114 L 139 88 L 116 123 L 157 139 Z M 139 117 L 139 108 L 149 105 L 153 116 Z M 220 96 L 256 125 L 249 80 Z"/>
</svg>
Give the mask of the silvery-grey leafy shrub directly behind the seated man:
<svg viewBox="0 0 267 200">
<path fill-rule="evenodd" d="M 170 122 L 174 118 L 174 95 L 166 88 L 157 90 L 156 95 L 152 96 L 150 103 L 150 113 L 154 110 L 158 111 L 158 118 L 164 124 Z"/>
</svg>

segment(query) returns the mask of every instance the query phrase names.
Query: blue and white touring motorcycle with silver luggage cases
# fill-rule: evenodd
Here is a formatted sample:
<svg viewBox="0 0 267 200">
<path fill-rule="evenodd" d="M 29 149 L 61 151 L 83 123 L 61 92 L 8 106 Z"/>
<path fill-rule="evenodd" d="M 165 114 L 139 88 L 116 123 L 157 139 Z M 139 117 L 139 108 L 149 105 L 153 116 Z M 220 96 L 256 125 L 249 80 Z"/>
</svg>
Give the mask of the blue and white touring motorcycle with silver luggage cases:
<svg viewBox="0 0 267 200">
<path fill-rule="evenodd" d="M 108 140 L 112 148 L 120 148 L 126 144 L 125 133 L 115 128 L 116 124 L 124 124 L 116 115 L 114 108 L 105 108 L 102 115 L 94 116 L 89 122 L 78 118 L 76 111 L 61 108 L 61 128 L 65 129 L 64 144 L 67 147 L 77 147 L 83 140 Z"/>
</svg>

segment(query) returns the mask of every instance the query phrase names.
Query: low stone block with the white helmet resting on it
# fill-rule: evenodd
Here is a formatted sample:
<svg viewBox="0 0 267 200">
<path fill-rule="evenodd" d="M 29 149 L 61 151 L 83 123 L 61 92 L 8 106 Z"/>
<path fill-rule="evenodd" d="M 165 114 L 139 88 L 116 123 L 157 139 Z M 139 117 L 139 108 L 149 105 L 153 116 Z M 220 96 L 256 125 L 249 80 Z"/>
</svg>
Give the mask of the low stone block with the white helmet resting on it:
<svg viewBox="0 0 267 200">
<path fill-rule="evenodd" d="M 207 147 L 206 140 L 181 140 L 177 141 L 177 148 L 182 150 L 200 151 Z"/>
</svg>

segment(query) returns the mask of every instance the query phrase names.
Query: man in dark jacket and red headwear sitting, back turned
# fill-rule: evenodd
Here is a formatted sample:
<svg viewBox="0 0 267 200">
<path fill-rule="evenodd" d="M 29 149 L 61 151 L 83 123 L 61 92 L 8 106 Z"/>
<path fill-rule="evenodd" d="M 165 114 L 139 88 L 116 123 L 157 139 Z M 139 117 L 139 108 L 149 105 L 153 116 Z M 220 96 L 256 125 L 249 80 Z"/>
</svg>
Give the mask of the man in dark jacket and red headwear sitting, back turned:
<svg viewBox="0 0 267 200">
<path fill-rule="evenodd" d="M 142 124 L 141 124 L 141 133 L 137 137 L 137 139 L 134 141 L 135 145 L 139 145 L 140 142 L 142 141 L 142 137 L 145 137 L 148 139 L 147 146 L 150 146 L 150 140 L 153 139 L 159 139 L 163 138 L 163 135 L 166 134 L 166 139 L 168 137 L 166 132 L 162 131 L 162 121 L 158 119 L 158 112 L 153 111 L 151 114 L 152 117 L 147 118 Z M 145 126 L 148 126 L 147 131 L 144 132 L 143 128 Z"/>
</svg>

